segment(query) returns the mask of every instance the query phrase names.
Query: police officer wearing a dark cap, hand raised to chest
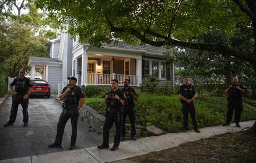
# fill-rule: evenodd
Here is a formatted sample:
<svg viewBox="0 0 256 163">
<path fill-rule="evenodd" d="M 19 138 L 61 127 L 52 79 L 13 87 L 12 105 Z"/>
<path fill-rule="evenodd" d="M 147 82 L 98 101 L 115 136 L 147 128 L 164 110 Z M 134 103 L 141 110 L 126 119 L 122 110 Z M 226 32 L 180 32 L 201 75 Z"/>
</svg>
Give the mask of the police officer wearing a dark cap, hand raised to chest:
<svg viewBox="0 0 256 163">
<path fill-rule="evenodd" d="M 77 121 L 79 118 L 79 112 L 84 103 L 83 90 L 78 87 L 77 78 L 74 76 L 67 78 L 69 79 L 69 85 L 64 87 L 59 95 L 60 100 L 64 100 L 63 111 L 59 117 L 57 125 L 57 135 L 53 144 L 48 145 L 49 148 L 61 148 L 62 138 L 64 129 L 69 118 L 71 119 L 72 135 L 69 150 L 75 148 L 75 142 L 77 141 Z"/>
</svg>

